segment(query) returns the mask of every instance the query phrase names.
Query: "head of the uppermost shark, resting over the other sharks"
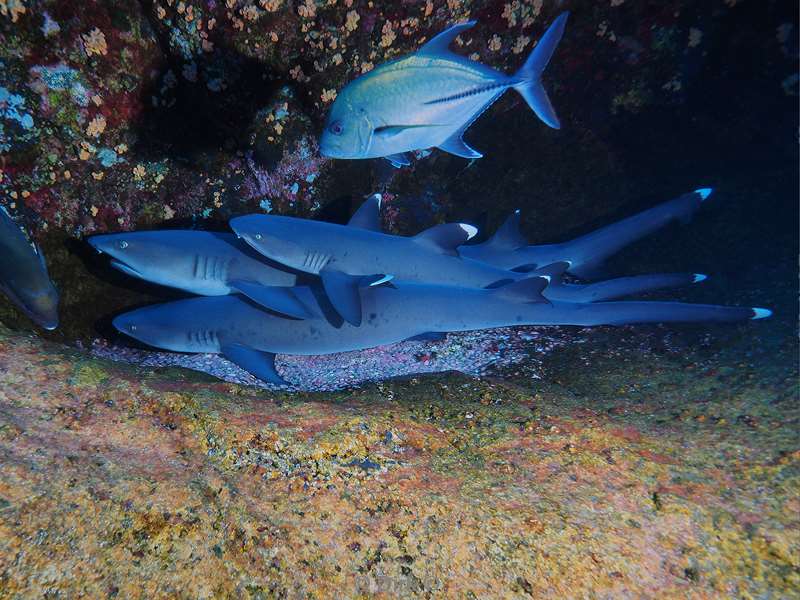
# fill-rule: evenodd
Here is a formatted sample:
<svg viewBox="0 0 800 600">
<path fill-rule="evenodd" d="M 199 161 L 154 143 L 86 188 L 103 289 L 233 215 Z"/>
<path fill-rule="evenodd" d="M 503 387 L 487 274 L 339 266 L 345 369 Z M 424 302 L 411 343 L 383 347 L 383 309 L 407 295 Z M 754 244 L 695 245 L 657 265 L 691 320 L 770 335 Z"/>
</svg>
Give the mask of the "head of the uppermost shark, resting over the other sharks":
<svg viewBox="0 0 800 600">
<path fill-rule="evenodd" d="M 271 215 L 246 215 L 229 223 L 236 235 L 262 256 L 283 265 L 313 272 L 310 249 L 318 245 L 315 221 Z M 323 224 L 324 225 L 324 224 Z"/>
</svg>

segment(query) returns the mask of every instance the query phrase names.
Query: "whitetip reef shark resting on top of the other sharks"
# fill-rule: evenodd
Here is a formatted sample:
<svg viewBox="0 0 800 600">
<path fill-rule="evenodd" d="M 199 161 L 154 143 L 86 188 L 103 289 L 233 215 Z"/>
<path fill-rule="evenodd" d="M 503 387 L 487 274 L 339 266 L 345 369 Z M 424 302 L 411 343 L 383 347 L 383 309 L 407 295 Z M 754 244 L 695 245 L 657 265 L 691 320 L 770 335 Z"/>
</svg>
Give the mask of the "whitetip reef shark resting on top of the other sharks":
<svg viewBox="0 0 800 600">
<path fill-rule="evenodd" d="M 366 210 L 362 207 L 357 215 Z M 270 260 L 319 275 L 336 310 L 353 325 L 361 321 L 358 288 L 386 278 L 482 288 L 525 277 L 459 257 L 456 247 L 477 231 L 472 225 L 436 225 L 414 237 L 401 237 L 374 231 L 354 220 L 337 225 L 247 215 L 231 219 L 230 227 Z"/>
</svg>

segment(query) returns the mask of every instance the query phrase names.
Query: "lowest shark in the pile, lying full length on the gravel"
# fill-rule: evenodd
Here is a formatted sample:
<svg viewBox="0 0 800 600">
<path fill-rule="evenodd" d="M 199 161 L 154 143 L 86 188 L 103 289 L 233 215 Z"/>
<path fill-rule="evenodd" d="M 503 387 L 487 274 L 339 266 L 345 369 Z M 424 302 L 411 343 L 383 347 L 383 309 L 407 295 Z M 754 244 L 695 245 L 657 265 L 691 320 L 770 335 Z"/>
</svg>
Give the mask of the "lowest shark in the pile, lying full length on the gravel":
<svg viewBox="0 0 800 600">
<path fill-rule="evenodd" d="M 121 333 L 175 352 L 221 354 L 263 381 L 287 385 L 276 354 L 320 355 L 362 350 L 431 332 L 515 325 L 625 325 L 654 322 L 739 322 L 761 319 L 767 309 L 678 302 L 539 302 L 544 277 L 495 289 L 386 282 L 358 290 L 363 323 L 327 317 L 326 298 L 314 287 L 296 294 L 314 316 L 291 319 L 239 296 L 196 297 L 149 306 L 113 320 Z"/>
</svg>

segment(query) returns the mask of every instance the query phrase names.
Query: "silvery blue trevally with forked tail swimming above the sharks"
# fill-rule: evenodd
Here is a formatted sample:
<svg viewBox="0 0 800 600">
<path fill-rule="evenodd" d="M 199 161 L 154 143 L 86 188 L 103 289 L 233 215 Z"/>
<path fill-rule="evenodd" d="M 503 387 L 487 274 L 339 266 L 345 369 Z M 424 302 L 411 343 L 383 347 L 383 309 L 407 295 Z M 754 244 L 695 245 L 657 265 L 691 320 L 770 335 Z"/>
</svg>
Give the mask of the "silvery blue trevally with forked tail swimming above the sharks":
<svg viewBox="0 0 800 600">
<path fill-rule="evenodd" d="M 320 152 L 338 159 L 383 157 L 394 166 L 410 164 L 409 152 L 434 147 L 481 158 L 464 142 L 464 132 L 508 89 L 516 90 L 546 125 L 559 129 L 541 76 L 564 34 L 568 14 L 553 21 L 510 76 L 449 50 L 476 23 L 467 21 L 439 33 L 417 52 L 358 77 L 337 94 Z"/>
</svg>

